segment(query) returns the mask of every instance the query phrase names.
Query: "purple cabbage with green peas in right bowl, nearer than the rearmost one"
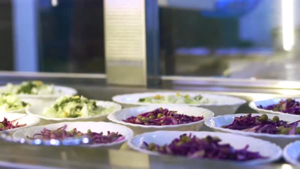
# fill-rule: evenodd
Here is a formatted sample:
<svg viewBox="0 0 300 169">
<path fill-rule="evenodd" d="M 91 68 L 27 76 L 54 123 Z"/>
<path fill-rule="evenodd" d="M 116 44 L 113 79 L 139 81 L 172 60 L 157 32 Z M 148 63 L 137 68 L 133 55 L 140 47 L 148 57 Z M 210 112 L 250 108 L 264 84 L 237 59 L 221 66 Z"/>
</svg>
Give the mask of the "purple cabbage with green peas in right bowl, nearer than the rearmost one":
<svg viewBox="0 0 300 169">
<path fill-rule="evenodd" d="M 248 114 L 246 116 L 235 117 L 232 124 L 222 127 L 257 133 L 292 135 L 300 134 L 300 127 L 297 127 L 299 122 L 288 124 L 288 122 L 280 120 L 278 116 L 269 119 L 265 114 L 262 116 Z"/>
</svg>

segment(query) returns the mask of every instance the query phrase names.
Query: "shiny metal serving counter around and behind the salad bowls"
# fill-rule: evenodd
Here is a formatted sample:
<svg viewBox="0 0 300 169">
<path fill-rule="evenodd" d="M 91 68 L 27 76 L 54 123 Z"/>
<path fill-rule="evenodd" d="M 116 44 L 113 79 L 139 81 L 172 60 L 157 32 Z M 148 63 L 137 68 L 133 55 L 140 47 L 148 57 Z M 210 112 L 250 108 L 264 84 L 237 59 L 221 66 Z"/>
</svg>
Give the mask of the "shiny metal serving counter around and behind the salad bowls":
<svg viewBox="0 0 300 169">
<path fill-rule="evenodd" d="M 79 94 L 89 98 L 111 100 L 113 95 L 133 92 L 163 90 L 197 90 L 204 93 L 238 96 L 251 101 L 257 98 L 299 96 L 298 82 L 256 81 L 218 78 L 161 77 L 161 84 L 154 88 L 124 87 L 106 85 L 105 75 L 82 74 L 43 74 L 0 72 L 0 84 L 20 83 L 24 80 L 42 80 L 53 84 L 74 87 Z M 283 85 L 286 84 L 286 85 Z M 299 85 L 300 86 L 300 85 Z M 254 112 L 247 104 L 241 106 L 238 113 Z M 205 127 L 201 130 L 206 130 Z M 158 157 L 134 152 L 123 146 L 121 150 L 87 148 L 78 146 L 41 146 L 20 144 L 0 140 L 0 167 L 47 169 L 47 168 L 113 168 L 113 169 L 250 169 L 253 166 L 241 166 L 236 163 L 195 160 L 180 157 Z M 284 160 L 255 166 L 256 169 L 294 169 Z"/>
</svg>

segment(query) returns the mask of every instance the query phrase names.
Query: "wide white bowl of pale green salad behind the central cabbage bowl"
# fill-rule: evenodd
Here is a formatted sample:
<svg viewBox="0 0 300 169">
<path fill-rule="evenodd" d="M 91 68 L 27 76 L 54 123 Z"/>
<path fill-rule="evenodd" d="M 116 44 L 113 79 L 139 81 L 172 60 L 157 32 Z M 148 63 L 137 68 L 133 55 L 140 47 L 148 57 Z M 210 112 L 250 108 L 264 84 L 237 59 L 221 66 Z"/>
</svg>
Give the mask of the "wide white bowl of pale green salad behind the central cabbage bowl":
<svg viewBox="0 0 300 169">
<path fill-rule="evenodd" d="M 235 112 L 245 100 L 232 96 L 203 94 L 201 92 L 147 92 L 115 95 L 114 102 L 122 107 L 136 107 L 153 104 L 176 104 L 209 109 L 215 115 Z M 142 101 L 141 101 L 142 100 Z"/>
</svg>

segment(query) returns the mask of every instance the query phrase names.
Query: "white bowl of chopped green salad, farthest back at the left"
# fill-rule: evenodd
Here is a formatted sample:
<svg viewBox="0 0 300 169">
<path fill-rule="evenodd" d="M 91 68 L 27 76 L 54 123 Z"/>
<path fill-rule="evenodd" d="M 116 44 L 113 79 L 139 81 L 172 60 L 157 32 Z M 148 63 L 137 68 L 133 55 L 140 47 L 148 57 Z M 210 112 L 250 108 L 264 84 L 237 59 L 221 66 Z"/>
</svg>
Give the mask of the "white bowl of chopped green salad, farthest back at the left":
<svg viewBox="0 0 300 169">
<path fill-rule="evenodd" d="M 58 98 L 62 95 L 75 95 L 71 87 L 44 84 L 41 81 L 24 81 L 21 84 L 8 83 L 0 86 L 0 93 L 17 95 L 19 98 Z"/>
</svg>

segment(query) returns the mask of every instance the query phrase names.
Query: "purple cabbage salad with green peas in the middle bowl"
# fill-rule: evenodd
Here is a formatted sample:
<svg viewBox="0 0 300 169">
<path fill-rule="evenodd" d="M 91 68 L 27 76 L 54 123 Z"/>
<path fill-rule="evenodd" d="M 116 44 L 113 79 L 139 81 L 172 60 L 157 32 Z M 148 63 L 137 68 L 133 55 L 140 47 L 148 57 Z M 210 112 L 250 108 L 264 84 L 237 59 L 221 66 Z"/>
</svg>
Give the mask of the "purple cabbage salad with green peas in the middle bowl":
<svg viewBox="0 0 300 169">
<path fill-rule="evenodd" d="M 153 111 L 131 116 L 123 122 L 146 126 L 166 126 L 181 125 L 203 120 L 203 116 L 195 117 L 184 114 L 177 114 L 176 111 L 170 111 L 164 108 L 157 108 Z"/>
</svg>

